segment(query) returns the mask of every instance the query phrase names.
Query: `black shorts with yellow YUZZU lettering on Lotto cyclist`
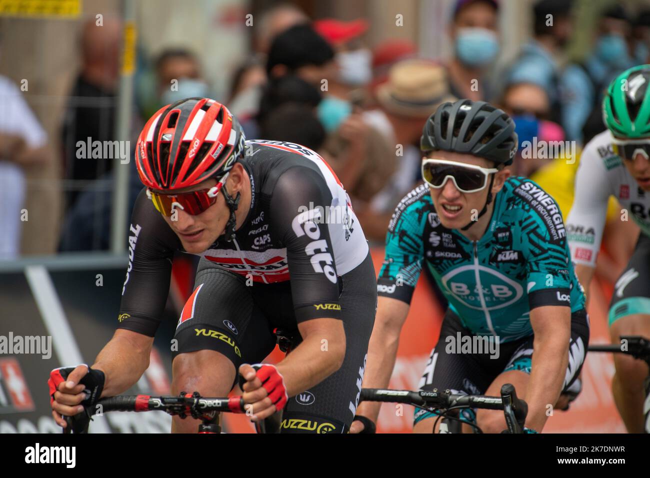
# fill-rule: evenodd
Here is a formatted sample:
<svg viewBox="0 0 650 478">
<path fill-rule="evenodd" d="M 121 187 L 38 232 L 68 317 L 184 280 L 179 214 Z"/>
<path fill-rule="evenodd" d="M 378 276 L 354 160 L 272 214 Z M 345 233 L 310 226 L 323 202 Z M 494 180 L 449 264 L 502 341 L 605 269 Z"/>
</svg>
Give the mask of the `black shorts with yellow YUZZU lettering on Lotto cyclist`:
<svg viewBox="0 0 650 478">
<path fill-rule="evenodd" d="M 252 282 L 252 281 L 251 281 Z M 224 354 L 235 370 L 265 360 L 276 345 L 274 328 L 300 338 L 290 282 L 246 285 L 246 278 L 201 259 L 195 289 L 176 328 L 177 354 L 203 349 Z M 320 384 L 289 397 L 281 432 L 345 433 L 359 404 L 368 342 L 377 308 L 370 254 L 339 277 L 339 304 L 346 337 L 341 368 Z"/>
</svg>

